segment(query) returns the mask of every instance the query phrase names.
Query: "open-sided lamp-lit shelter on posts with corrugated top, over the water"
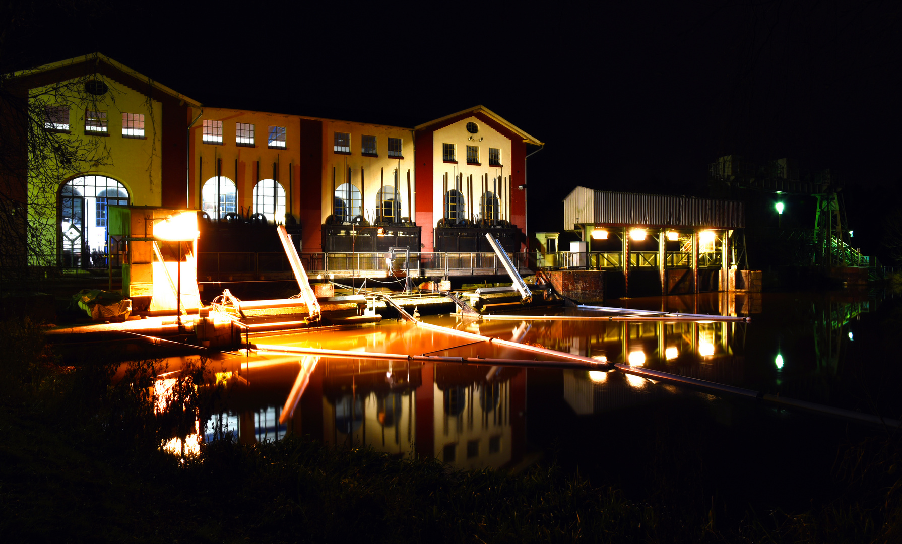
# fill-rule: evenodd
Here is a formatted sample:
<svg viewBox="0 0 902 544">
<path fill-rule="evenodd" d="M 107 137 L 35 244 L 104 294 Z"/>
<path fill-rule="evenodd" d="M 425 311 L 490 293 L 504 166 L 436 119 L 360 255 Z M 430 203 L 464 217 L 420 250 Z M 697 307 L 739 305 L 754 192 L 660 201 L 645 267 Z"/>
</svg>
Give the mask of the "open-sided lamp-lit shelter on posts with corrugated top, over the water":
<svg viewBox="0 0 902 544">
<path fill-rule="evenodd" d="M 641 272 L 656 269 L 663 295 L 728 290 L 731 274 L 734 286 L 748 277 L 738 270 L 747 267 L 744 227 L 737 201 L 577 187 L 564 199 L 564 228 L 582 242 L 555 260 L 560 268 L 616 272 L 625 296 Z"/>
</svg>

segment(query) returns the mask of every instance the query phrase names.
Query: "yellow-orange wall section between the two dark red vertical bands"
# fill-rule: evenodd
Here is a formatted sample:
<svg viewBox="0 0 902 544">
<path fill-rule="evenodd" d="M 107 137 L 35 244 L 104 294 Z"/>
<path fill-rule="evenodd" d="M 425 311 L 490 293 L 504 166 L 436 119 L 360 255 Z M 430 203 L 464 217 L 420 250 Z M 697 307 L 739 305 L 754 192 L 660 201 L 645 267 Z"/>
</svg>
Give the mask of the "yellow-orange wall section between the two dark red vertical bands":
<svg viewBox="0 0 902 544">
<path fill-rule="evenodd" d="M 346 155 L 335 152 L 335 133 L 347 133 L 351 138 L 351 154 Z M 364 134 L 376 136 L 377 157 L 361 154 L 361 143 Z M 401 153 L 403 159 L 391 158 L 389 152 L 389 138 L 400 138 Z M 400 193 L 401 217 L 416 217 L 416 202 L 408 195 L 407 172 L 410 171 L 410 191 L 416 192 L 416 180 L 413 168 L 413 136 L 410 129 L 384 124 L 365 124 L 350 121 L 323 120 L 323 190 L 320 202 L 321 222 L 326 221 L 332 213 L 332 169 L 335 168 L 335 187 L 347 181 L 346 169 L 351 168 L 351 183 L 357 189 L 364 189 L 365 217 L 371 223 L 373 214 L 379 207 L 377 194 L 380 189 L 380 178 L 384 169 L 384 185 L 394 185 L 394 171 L 400 171 L 398 192 Z M 361 168 L 364 169 L 366 186 L 361 185 Z M 390 191 L 386 191 L 391 194 Z M 410 202 L 410 208 L 408 203 Z M 410 213 L 409 213 L 410 210 Z M 354 215 L 360 212 L 355 210 Z"/>
</svg>

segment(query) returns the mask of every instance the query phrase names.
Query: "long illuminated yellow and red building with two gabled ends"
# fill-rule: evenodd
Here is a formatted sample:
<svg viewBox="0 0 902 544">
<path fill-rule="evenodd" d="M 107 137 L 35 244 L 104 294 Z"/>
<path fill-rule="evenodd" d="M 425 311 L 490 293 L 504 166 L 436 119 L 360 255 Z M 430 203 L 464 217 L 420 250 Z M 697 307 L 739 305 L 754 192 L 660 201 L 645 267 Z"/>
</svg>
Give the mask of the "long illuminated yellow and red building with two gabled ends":
<svg viewBox="0 0 902 544">
<path fill-rule="evenodd" d="M 493 228 L 509 251 L 525 242 L 526 145 L 541 143 L 483 106 L 415 128 L 209 107 L 99 53 L 15 76 L 45 130 L 90 150 L 45 179 L 29 172 L 51 265 L 106 254 L 109 204 L 293 225 L 303 253 L 382 251 L 375 234 L 363 243 L 367 228 L 412 252 L 449 250 L 434 227 Z"/>
</svg>

